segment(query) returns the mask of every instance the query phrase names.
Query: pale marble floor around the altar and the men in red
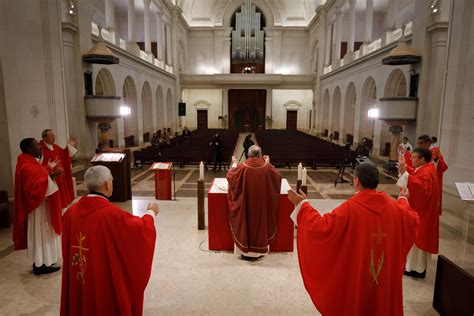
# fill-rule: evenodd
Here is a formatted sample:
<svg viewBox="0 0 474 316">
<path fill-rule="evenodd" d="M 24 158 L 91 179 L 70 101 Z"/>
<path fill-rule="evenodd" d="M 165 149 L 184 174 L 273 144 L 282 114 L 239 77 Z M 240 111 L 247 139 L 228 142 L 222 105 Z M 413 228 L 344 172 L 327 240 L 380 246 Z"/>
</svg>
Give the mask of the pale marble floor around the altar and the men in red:
<svg viewBox="0 0 474 316">
<path fill-rule="evenodd" d="M 139 212 L 151 201 L 136 197 L 118 203 Z M 323 212 L 342 200 L 311 200 Z M 197 230 L 195 198 L 159 201 L 153 270 L 145 292 L 145 315 L 315 315 L 301 280 L 296 253 L 272 253 L 256 262 L 207 249 L 207 230 Z M 206 201 L 207 205 L 207 201 Z M 463 221 L 442 216 L 441 253 L 474 268 L 472 240 L 453 232 Z M 448 227 L 448 229 L 447 229 Z M 5 238 L 8 232 L 2 232 Z M 466 249 L 467 248 L 467 249 Z M 295 248 L 296 249 L 296 248 Z M 403 278 L 406 315 L 436 315 L 432 308 L 436 256 L 427 278 Z M 25 251 L 0 252 L 0 314 L 57 315 L 61 275 L 34 276 Z"/>
</svg>

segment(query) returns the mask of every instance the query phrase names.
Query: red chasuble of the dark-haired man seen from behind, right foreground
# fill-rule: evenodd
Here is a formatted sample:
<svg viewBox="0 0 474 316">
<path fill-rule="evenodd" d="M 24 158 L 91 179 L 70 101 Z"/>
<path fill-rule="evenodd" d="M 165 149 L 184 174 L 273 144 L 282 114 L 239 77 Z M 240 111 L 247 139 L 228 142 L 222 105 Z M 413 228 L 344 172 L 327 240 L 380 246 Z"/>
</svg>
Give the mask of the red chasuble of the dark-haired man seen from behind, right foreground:
<svg viewBox="0 0 474 316">
<path fill-rule="evenodd" d="M 298 214 L 298 258 L 323 315 L 402 315 L 402 275 L 418 215 L 406 199 L 364 190 L 321 216 Z"/>
</svg>

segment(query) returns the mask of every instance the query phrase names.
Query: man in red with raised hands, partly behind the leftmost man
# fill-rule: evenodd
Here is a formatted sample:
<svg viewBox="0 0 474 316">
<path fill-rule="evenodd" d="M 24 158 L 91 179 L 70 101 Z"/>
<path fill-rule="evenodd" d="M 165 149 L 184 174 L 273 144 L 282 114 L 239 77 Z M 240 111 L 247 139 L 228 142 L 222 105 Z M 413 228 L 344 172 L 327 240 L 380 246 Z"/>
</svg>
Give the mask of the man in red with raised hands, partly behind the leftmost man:
<svg viewBox="0 0 474 316">
<path fill-rule="evenodd" d="M 59 188 L 61 197 L 61 207 L 67 207 L 74 200 L 74 185 L 72 183 L 71 157 L 77 152 L 76 142 L 73 139 L 68 141 L 65 148 L 61 148 L 54 143 L 56 137 L 50 129 L 45 129 L 41 133 L 43 140 L 40 141 L 43 151 L 43 166 L 47 167 L 48 162 L 57 161 L 62 170 L 62 174 L 54 179 Z"/>
</svg>

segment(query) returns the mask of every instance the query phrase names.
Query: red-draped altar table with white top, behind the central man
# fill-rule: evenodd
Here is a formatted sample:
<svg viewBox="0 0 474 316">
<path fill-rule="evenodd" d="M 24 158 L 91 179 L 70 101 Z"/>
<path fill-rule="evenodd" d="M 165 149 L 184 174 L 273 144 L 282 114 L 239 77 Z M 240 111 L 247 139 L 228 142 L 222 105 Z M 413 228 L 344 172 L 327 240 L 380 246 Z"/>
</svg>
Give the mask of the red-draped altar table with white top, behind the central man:
<svg viewBox="0 0 474 316">
<path fill-rule="evenodd" d="M 234 250 L 234 241 L 232 240 L 229 224 L 227 187 L 226 178 L 215 178 L 208 191 L 209 250 Z M 288 181 L 282 179 L 277 233 L 270 243 L 271 252 L 293 252 L 294 223 L 290 218 L 290 214 L 294 209 L 294 205 L 288 199 L 287 192 L 289 189 Z"/>
</svg>

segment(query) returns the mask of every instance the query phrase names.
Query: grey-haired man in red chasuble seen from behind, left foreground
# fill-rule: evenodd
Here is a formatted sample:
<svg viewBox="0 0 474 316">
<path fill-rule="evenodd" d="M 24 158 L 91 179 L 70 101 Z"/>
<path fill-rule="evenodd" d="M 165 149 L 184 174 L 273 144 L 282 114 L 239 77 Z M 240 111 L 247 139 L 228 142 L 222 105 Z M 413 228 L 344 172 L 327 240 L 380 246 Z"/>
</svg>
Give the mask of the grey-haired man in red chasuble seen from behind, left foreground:
<svg viewBox="0 0 474 316">
<path fill-rule="evenodd" d="M 63 216 L 61 315 L 142 315 L 158 205 L 138 217 L 110 203 L 105 166 L 89 168 L 84 181 L 89 194 Z"/>
</svg>

